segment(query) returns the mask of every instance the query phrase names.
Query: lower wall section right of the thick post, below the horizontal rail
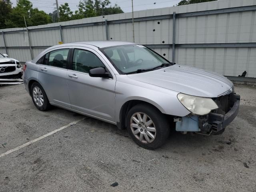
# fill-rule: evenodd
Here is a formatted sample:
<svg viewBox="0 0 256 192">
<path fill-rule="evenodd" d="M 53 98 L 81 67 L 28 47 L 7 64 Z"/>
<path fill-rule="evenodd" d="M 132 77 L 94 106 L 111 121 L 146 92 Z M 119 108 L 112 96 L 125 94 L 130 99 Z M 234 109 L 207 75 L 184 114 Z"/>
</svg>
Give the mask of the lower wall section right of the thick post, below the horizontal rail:
<svg viewBox="0 0 256 192">
<path fill-rule="evenodd" d="M 256 48 L 179 48 L 176 62 L 226 76 L 246 70 L 246 76 L 256 77 Z"/>
</svg>

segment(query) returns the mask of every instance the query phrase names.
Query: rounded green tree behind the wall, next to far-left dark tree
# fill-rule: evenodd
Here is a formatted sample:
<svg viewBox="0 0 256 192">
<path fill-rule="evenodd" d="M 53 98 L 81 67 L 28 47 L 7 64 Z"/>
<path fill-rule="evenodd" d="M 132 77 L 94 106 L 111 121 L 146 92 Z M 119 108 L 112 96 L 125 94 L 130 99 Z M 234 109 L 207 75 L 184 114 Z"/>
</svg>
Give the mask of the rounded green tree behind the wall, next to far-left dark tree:
<svg viewBox="0 0 256 192">
<path fill-rule="evenodd" d="M 10 19 L 5 21 L 6 27 L 25 27 L 24 17 L 27 26 L 43 25 L 52 22 L 52 18 L 44 11 L 33 8 L 29 0 L 17 0 L 17 6 L 9 14 Z"/>
</svg>

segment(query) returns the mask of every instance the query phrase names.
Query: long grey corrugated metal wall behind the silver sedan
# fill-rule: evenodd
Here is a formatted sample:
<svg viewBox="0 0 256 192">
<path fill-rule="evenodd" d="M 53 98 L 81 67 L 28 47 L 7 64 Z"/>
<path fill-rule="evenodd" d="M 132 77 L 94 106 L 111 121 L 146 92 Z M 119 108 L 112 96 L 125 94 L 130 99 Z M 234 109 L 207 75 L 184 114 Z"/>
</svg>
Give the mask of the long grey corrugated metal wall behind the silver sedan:
<svg viewBox="0 0 256 192">
<path fill-rule="evenodd" d="M 176 12 L 175 25 L 175 62 L 219 72 L 227 76 L 238 76 L 245 70 L 248 77 L 256 77 L 256 0 L 218 0 L 186 6 L 176 6 L 134 12 L 134 18 L 164 16 Z M 246 10 L 245 8 L 248 8 Z M 196 16 L 179 14 L 208 10 L 244 7 L 244 10 L 230 11 Z M 131 13 L 85 18 L 69 22 L 60 22 L 29 27 L 33 55 L 61 41 L 59 25 L 65 43 L 106 40 L 105 20 L 109 22 L 108 39 L 133 41 L 132 22 L 115 21 L 132 18 Z M 98 22 L 98 23 L 96 23 Z M 90 24 L 91 26 L 78 26 Z M 71 26 L 74 25 L 74 26 Z M 150 45 L 162 56 L 172 60 L 173 19 L 140 19 L 134 22 L 136 43 Z M 28 33 L 24 28 L 4 31 L 8 54 L 20 61 L 31 60 Z M 229 44 L 219 46 L 212 44 Z M 239 44 L 252 43 L 250 46 Z M 191 44 L 191 48 L 188 46 Z M 198 44 L 204 45 L 198 47 Z M 230 45 L 231 44 L 231 45 Z M 157 46 L 156 46 L 157 45 Z M 181 45 L 181 46 L 178 46 Z M 186 46 L 187 45 L 187 46 Z M 195 48 L 196 45 L 196 48 Z M 209 46 L 210 45 L 210 46 Z M 255 44 L 256 45 L 256 44 Z M 0 34 L 0 52 L 5 52 L 3 34 Z"/>
</svg>

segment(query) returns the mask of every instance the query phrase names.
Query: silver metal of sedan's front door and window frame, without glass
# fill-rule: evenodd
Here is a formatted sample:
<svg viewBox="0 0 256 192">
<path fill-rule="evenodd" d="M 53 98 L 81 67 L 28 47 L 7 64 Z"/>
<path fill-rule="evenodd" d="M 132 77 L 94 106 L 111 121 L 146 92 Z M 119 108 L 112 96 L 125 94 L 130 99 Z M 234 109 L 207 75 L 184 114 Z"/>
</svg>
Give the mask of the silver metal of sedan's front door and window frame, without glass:
<svg viewBox="0 0 256 192">
<path fill-rule="evenodd" d="M 81 49 L 79 46 L 73 48 Z M 84 47 L 94 53 L 108 68 L 113 78 L 90 77 L 88 73 L 68 70 L 67 84 L 71 108 L 110 121 L 115 121 L 116 76 L 109 64 L 96 50 Z M 70 77 L 75 75 L 77 78 Z"/>
</svg>

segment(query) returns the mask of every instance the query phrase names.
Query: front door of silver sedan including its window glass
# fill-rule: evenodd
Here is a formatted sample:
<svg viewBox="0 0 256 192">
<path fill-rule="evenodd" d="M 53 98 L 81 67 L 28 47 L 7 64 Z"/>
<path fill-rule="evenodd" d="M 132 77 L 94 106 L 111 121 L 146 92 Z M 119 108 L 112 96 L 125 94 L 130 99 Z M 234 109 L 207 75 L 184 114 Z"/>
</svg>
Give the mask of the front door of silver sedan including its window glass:
<svg viewBox="0 0 256 192">
<path fill-rule="evenodd" d="M 67 73 L 71 108 L 114 122 L 116 76 L 113 73 L 112 78 L 90 77 L 90 69 L 110 69 L 96 51 L 84 49 L 74 49 L 72 69 Z"/>
</svg>

